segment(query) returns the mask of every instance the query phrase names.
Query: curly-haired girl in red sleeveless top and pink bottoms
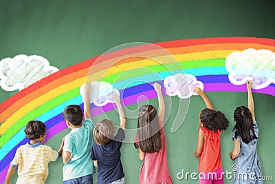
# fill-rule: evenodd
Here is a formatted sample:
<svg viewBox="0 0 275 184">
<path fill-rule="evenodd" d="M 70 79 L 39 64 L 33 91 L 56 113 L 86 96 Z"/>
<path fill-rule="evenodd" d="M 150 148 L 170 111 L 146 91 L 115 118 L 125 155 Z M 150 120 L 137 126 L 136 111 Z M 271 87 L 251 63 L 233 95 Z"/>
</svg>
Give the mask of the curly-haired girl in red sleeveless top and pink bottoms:
<svg viewBox="0 0 275 184">
<path fill-rule="evenodd" d="M 224 181 L 221 166 L 221 131 L 228 127 L 228 119 L 220 111 L 215 111 L 212 103 L 200 88 L 194 91 L 201 96 L 206 109 L 199 113 L 199 135 L 197 149 L 194 153 L 199 158 L 199 183 L 216 183 Z"/>
</svg>

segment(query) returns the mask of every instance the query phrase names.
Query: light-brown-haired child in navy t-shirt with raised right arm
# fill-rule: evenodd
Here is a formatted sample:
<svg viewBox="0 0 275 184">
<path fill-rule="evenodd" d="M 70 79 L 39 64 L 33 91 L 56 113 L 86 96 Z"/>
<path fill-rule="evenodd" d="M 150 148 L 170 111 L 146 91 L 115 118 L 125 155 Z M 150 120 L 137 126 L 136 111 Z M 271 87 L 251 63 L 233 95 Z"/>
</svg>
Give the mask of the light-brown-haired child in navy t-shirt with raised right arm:
<svg viewBox="0 0 275 184">
<path fill-rule="evenodd" d="M 120 148 L 125 139 L 125 117 L 120 104 L 120 97 L 114 96 L 115 104 L 120 114 L 120 129 L 113 137 L 115 125 L 108 119 L 100 121 L 94 128 L 94 143 L 91 159 L 98 167 L 98 184 L 125 183 L 122 163 L 120 161 Z"/>
</svg>

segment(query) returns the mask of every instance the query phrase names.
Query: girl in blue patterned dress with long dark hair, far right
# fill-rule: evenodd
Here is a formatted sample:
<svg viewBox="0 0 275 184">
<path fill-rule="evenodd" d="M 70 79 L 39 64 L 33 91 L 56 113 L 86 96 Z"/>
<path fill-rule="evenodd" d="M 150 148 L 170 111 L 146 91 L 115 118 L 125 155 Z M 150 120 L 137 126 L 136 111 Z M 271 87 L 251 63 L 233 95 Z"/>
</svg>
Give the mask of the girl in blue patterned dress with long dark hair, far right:
<svg viewBox="0 0 275 184">
<path fill-rule="evenodd" d="M 234 183 L 261 184 L 261 164 L 256 150 L 259 127 L 254 115 L 254 101 L 252 96 L 252 81 L 247 81 L 248 108 L 240 106 L 234 112 L 234 126 L 232 139 L 234 150 L 230 152 L 230 159 L 238 166 L 234 174 Z"/>
</svg>

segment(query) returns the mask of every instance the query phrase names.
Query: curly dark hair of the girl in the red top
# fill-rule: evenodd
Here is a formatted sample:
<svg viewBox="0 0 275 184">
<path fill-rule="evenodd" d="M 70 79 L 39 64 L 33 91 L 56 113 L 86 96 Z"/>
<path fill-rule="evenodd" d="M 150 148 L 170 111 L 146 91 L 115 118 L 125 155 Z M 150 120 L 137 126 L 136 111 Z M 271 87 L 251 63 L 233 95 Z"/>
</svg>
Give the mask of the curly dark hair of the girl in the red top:
<svg viewBox="0 0 275 184">
<path fill-rule="evenodd" d="M 203 127 L 206 127 L 213 132 L 216 132 L 217 130 L 226 130 L 229 124 L 228 119 L 226 119 L 221 111 L 210 110 L 208 108 L 201 111 L 199 119 L 203 124 Z"/>
</svg>

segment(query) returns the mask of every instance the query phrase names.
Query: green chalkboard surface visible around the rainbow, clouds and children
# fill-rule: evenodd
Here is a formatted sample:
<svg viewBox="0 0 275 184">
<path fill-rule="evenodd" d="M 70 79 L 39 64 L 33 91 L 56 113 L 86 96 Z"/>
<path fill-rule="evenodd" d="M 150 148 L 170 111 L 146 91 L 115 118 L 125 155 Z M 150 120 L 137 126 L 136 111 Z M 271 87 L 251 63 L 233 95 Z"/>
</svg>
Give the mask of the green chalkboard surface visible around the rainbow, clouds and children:
<svg viewBox="0 0 275 184">
<path fill-rule="evenodd" d="M 72 1 L 72 0 L 0 0 L 0 59 L 17 54 L 37 54 L 60 70 L 96 57 L 122 43 L 154 43 L 205 37 L 264 37 L 275 39 L 274 1 Z M 0 103 L 16 94 L 0 89 Z M 211 92 L 207 94 L 214 108 L 230 119 L 230 127 L 221 136 L 223 169 L 231 171 L 228 153 L 232 150 L 232 116 L 238 105 L 247 105 L 247 94 Z M 177 97 L 172 98 L 178 103 Z M 275 98 L 254 94 L 256 121 L 259 123 L 258 153 L 263 174 L 274 175 L 273 143 Z M 157 101 L 150 103 L 157 106 Z M 12 104 L 11 104 L 12 105 Z M 131 105 L 129 108 L 136 108 Z M 193 157 L 197 143 L 198 116 L 204 108 L 199 96 L 192 96 L 186 119 L 175 133 L 170 132 L 177 107 L 173 106 L 165 125 L 168 165 L 174 183 L 198 183 L 177 179 L 177 173 L 197 172 Z M 107 112 L 118 123 L 115 111 Z M 94 117 L 98 123 L 102 116 Z M 126 127 L 136 127 L 127 119 Z M 47 145 L 58 150 L 69 130 L 54 136 Z M 122 165 L 126 183 L 138 183 L 142 162 L 133 144 L 122 145 Z M 46 183 L 62 183 L 63 162 L 50 163 Z M 12 177 L 15 183 L 17 174 Z M 275 179 L 275 178 L 274 178 Z M 94 175 L 96 183 L 96 174 Z M 225 181 L 232 183 L 232 181 Z M 266 181 L 265 183 L 272 183 Z"/>
</svg>

